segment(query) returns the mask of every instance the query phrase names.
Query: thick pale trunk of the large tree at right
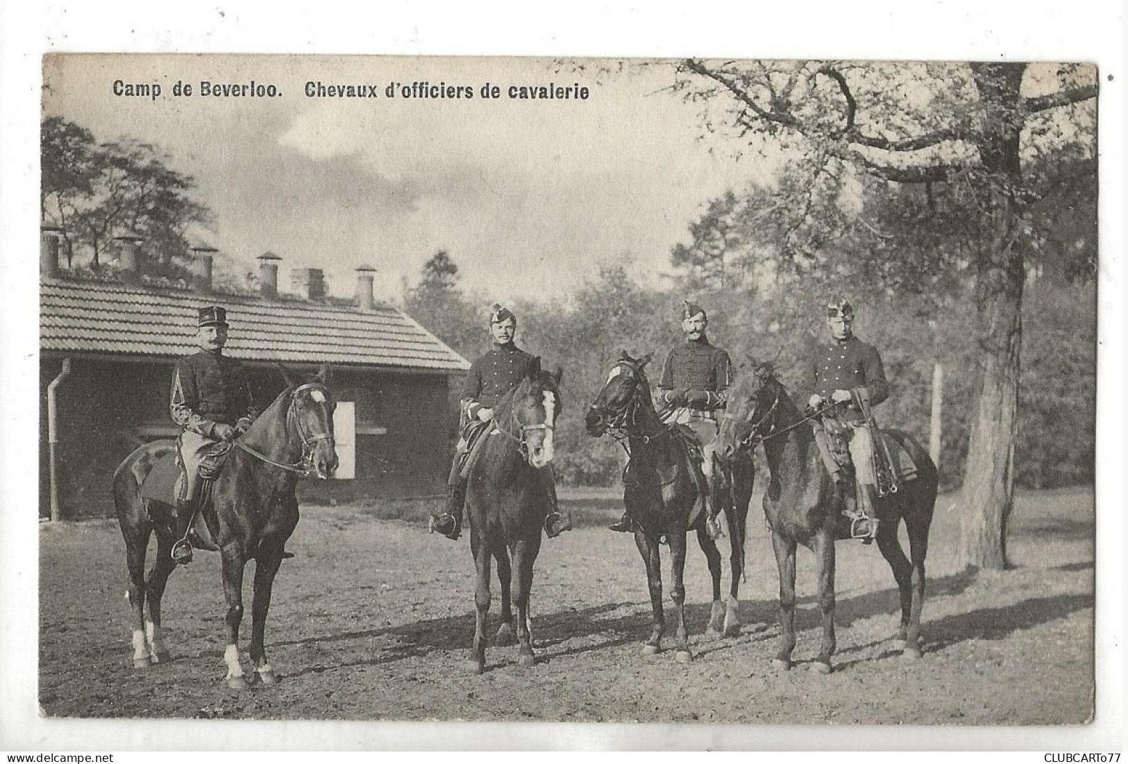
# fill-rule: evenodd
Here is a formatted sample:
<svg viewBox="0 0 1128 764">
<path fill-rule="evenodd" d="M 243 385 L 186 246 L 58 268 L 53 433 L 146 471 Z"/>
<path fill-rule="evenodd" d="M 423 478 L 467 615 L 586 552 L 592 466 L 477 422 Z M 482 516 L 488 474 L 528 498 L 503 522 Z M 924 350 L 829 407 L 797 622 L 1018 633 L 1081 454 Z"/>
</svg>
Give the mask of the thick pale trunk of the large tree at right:
<svg viewBox="0 0 1128 764">
<path fill-rule="evenodd" d="M 960 559 L 1002 569 L 1006 528 L 1014 506 L 1014 442 L 1019 423 L 1019 350 L 1022 343 L 1023 257 L 1016 240 L 1022 223 L 1022 64 L 972 64 L 984 101 L 979 154 L 987 170 L 984 251 L 977 296 L 982 387 L 968 443 L 960 522 Z"/>
</svg>

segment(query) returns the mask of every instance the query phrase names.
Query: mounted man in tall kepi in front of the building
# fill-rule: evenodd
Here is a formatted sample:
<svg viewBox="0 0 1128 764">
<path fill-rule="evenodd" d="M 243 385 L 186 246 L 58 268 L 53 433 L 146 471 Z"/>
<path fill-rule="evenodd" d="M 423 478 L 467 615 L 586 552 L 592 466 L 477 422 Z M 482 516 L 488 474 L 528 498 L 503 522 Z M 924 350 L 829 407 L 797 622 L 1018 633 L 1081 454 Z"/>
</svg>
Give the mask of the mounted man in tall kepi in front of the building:
<svg viewBox="0 0 1128 764">
<path fill-rule="evenodd" d="M 200 463 L 220 442 L 243 435 L 258 416 L 243 366 L 223 355 L 227 311 L 218 305 L 201 308 L 196 320 L 200 350 L 180 358 L 173 372 L 169 410 L 183 428 L 176 439 L 180 480 L 176 495 L 177 538 L 173 559 L 192 561 L 188 530 L 200 507 Z M 288 554 L 288 557 L 293 557 Z"/>
</svg>

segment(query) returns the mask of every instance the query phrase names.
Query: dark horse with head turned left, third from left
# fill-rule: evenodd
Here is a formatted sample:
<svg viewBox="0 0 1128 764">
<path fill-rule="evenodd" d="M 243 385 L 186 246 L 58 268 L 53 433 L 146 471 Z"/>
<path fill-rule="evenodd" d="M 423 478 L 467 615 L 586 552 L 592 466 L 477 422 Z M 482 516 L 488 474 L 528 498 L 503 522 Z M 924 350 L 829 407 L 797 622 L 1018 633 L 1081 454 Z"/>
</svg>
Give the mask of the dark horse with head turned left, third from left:
<svg viewBox="0 0 1128 764">
<path fill-rule="evenodd" d="M 629 454 L 624 471 L 623 501 L 634 521 L 635 545 L 646 567 L 646 581 L 653 611 L 653 628 L 643 646 L 643 655 L 662 650 L 666 615 L 662 608 L 662 557 L 659 543 L 670 545 L 676 631 L 675 658 L 693 661 L 686 627 L 686 534 L 697 532 L 697 543 L 705 553 L 713 579 L 713 601 L 706 634 L 711 638 L 740 633 L 739 588 L 744 568 L 744 519 L 752 496 L 754 468 L 750 457 L 737 460 L 728 483 L 725 518 L 731 539 L 732 584 L 728 606 L 721 598 L 721 552 L 705 526 L 706 513 L 698 505 L 700 490 L 690 473 L 693 462 L 686 441 L 666 426 L 654 409 L 645 366 L 652 355 L 632 358 L 623 350 L 608 374 L 594 402 L 588 408 L 588 434 L 610 434 Z M 717 472 L 714 472 L 717 474 Z M 629 477 L 628 477 L 629 476 Z M 719 500 L 721 496 L 714 495 Z"/>
</svg>

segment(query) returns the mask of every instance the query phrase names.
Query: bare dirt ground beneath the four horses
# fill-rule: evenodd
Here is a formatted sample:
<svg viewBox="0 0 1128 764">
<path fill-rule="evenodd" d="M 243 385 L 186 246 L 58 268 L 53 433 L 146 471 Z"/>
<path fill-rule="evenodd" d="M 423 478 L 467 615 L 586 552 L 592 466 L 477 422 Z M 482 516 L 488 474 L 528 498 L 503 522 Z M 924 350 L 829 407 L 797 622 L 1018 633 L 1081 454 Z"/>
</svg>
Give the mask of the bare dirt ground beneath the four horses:
<svg viewBox="0 0 1128 764">
<path fill-rule="evenodd" d="M 1006 572 L 963 572 L 954 496 L 942 496 L 928 559 L 924 657 L 891 648 L 897 593 L 874 547 L 838 544 L 838 654 L 818 676 L 811 554 L 799 558 L 797 665 L 772 668 L 776 572 L 754 498 L 739 637 L 706 640 L 708 572 L 690 543 L 687 601 L 695 660 L 646 657 L 650 605 L 633 540 L 603 523 L 614 491 L 564 494 L 581 527 L 547 541 L 534 584 L 539 663 L 517 648 L 464 667 L 474 630 L 467 538 L 424 531 L 411 503 L 306 507 L 267 623 L 281 682 L 223 684 L 219 559 L 174 574 L 165 631 L 174 660 L 132 665 L 124 547 L 115 521 L 41 528 L 39 699 L 62 717 L 473 719 L 741 723 L 1082 723 L 1093 709 L 1093 497 L 1087 489 L 1020 496 Z M 724 542 L 722 542 L 724 543 Z M 150 551 L 150 554 L 152 551 Z M 82 556 L 80 560 L 80 554 Z M 74 576 L 81 568 L 87 575 Z M 668 570 L 668 565 L 666 566 Z M 667 574 L 668 575 L 668 574 Z M 240 648 L 249 638 L 246 578 Z M 728 587 L 728 574 L 725 574 Z M 494 587 L 496 624 L 496 583 Z M 668 612 L 669 612 L 669 602 Z M 767 624 L 755 631 L 752 624 Z"/>
</svg>

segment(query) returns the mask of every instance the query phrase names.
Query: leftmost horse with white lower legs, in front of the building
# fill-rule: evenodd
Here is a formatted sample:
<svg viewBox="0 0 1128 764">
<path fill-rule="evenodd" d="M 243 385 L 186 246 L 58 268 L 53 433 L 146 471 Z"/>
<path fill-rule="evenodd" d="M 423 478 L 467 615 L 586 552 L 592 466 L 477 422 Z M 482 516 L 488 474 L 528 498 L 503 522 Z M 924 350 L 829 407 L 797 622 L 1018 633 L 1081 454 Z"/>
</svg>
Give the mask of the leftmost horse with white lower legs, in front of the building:
<svg viewBox="0 0 1128 764">
<path fill-rule="evenodd" d="M 194 522 L 197 547 L 218 551 L 222 560 L 227 603 L 223 661 L 227 686 L 231 690 L 248 687 L 237 647 L 243 621 L 244 567 L 250 559 L 256 561 L 250 608 L 252 681 L 257 678 L 264 685 L 272 685 L 277 678 L 263 646 L 266 612 L 285 542 L 298 525 L 298 477 L 314 473 L 327 479 L 337 467 L 333 436 L 336 403 L 326 387 L 328 364 L 309 381 L 294 379 L 285 368 L 281 371 L 287 389 L 246 434 L 233 442 L 222 471 L 212 483 L 210 507 L 202 507 Z M 170 658 L 161 634 L 160 606 L 168 576 L 176 567 L 171 558 L 177 535 L 175 509 L 171 494 L 168 501 L 159 501 L 143 497 L 141 488 L 162 460 L 175 456 L 175 450 L 173 441 L 139 446 L 117 467 L 113 477 L 114 505 L 125 539 L 130 575 L 126 597 L 133 611 L 135 668 Z M 168 462 L 160 468 L 168 470 Z M 157 535 L 157 559 L 147 580 L 146 552 L 153 533 Z"/>
</svg>

